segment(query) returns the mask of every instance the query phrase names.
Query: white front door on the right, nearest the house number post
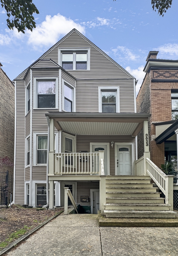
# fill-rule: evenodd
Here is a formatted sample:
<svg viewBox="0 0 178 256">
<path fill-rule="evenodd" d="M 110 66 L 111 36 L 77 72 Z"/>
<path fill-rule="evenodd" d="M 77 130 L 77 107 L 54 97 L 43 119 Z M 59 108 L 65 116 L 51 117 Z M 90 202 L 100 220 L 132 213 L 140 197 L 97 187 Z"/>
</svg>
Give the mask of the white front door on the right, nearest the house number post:
<svg viewBox="0 0 178 256">
<path fill-rule="evenodd" d="M 117 171 L 116 175 L 131 175 L 131 145 L 117 145 L 116 161 Z"/>
</svg>

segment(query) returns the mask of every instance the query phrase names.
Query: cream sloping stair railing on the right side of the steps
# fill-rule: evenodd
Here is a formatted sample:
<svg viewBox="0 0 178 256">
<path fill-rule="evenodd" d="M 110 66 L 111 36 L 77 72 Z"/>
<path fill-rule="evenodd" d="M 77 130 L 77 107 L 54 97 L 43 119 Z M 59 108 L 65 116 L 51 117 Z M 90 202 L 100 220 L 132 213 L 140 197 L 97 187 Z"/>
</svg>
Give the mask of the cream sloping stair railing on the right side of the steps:
<svg viewBox="0 0 178 256">
<path fill-rule="evenodd" d="M 153 179 L 155 184 L 165 195 L 165 203 L 170 204 L 170 210 L 173 210 L 173 175 L 166 175 L 149 158 L 146 158 L 148 164 L 147 173 Z"/>
</svg>

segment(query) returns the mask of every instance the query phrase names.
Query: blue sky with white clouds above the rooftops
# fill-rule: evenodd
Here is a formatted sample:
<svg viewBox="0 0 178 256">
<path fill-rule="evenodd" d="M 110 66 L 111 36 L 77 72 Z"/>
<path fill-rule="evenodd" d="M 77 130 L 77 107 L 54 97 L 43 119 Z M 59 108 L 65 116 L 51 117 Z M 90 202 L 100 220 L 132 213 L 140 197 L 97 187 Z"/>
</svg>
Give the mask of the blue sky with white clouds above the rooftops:
<svg viewBox="0 0 178 256">
<path fill-rule="evenodd" d="M 5 9 L 0 8 L 0 62 L 13 80 L 73 28 L 105 51 L 138 79 L 145 73 L 149 51 L 157 58 L 178 59 L 178 1 L 164 17 L 153 12 L 151 0 L 34 0 L 36 29 L 25 35 L 9 30 Z"/>
</svg>

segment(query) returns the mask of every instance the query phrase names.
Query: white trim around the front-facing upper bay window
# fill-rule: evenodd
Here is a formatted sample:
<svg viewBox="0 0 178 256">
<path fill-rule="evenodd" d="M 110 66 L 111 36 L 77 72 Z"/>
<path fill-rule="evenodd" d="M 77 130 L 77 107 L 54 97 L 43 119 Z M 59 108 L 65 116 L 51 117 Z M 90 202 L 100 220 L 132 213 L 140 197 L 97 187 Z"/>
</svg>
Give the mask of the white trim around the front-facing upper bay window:
<svg viewBox="0 0 178 256">
<path fill-rule="evenodd" d="M 58 79 L 59 77 L 34 77 L 33 78 L 33 109 L 58 109 Z M 51 81 L 51 80 L 56 80 L 56 88 L 55 88 L 55 92 L 56 92 L 56 107 L 55 108 L 38 108 L 37 104 L 38 104 L 38 99 L 37 99 L 37 82 L 38 81 Z"/>
</svg>

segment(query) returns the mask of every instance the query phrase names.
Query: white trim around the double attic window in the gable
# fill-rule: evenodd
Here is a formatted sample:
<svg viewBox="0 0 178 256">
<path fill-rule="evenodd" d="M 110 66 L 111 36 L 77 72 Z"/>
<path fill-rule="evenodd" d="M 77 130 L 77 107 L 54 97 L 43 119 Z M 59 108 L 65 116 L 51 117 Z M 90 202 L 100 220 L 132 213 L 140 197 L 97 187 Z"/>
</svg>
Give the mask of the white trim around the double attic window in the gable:
<svg viewBox="0 0 178 256">
<path fill-rule="evenodd" d="M 58 64 L 62 67 L 62 52 L 87 52 L 87 69 L 77 69 L 77 71 L 86 71 L 90 70 L 90 48 L 87 47 L 79 47 L 79 48 L 58 48 Z M 76 70 L 76 55 L 73 57 L 73 69 Z"/>
</svg>

